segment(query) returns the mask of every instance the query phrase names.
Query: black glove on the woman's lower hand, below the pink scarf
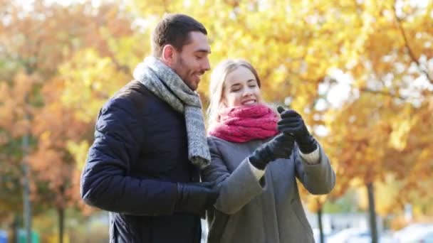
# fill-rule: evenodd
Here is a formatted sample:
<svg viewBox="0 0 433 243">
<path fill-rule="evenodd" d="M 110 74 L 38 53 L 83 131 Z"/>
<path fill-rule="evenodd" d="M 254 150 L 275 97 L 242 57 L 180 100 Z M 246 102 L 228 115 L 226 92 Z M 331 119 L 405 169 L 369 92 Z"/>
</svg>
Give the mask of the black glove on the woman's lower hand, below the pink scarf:
<svg viewBox="0 0 433 243">
<path fill-rule="evenodd" d="M 290 157 L 294 143 L 293 136 L 278 134 L 270 141 L 262 144 L 249 156 L 249 162 L 256 168 L 264 170 L 266 165 L 277 158 Z"/>
</svg>

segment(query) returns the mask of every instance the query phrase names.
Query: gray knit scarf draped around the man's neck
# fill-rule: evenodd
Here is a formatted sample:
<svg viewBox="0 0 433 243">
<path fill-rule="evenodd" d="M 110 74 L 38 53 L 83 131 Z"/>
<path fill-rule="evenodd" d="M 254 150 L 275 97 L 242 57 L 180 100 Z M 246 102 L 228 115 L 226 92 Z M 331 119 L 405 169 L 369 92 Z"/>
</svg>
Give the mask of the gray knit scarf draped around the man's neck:
<svg viewBox="0 0 433 243">
<path fill-rule="evenodd" d="M 192 91 L 171 68 L 154 57 L 145 58 L 134 70 L 140 81 L 157 97 L 177 112 L 184 114 L 188 137 L 188 158 L 195 166 L 204 168 L 210 163 L 209 147 L 199 95 Z"/>
</svg>

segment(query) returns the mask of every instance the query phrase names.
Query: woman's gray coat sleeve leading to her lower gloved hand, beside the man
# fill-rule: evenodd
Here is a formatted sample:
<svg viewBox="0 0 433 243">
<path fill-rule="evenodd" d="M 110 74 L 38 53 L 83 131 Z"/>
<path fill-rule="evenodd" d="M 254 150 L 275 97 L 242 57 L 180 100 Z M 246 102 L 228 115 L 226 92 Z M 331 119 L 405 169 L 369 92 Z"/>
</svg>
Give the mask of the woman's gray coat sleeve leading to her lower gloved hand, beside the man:
<svg viewBox="0 0 433 243">
<path fill-rule="evenodd" d="M 241 161 L 239 166 L 230 173 L 212 138 L 208 139 L 208 144 L 212 162 L 202 171 L 202 180 L 221 183 L 219 198 L 216 199 L 214 207 L 225 214 L 234 214 L 256 195 L 262 193 L 264 177 L 257 180 L 251 171 L 248 158 Z"/>
</svg>

